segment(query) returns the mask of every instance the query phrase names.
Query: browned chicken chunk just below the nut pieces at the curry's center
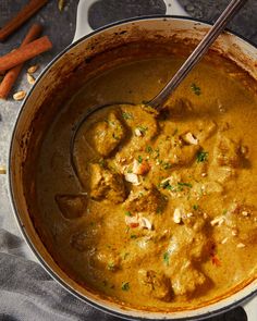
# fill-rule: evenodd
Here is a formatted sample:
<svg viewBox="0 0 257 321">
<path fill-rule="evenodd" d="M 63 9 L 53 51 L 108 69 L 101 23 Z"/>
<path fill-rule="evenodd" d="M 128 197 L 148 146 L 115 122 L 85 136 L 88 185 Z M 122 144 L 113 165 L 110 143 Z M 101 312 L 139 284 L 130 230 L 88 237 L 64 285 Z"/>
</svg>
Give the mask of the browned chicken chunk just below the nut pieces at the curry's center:
<svg viewBox="0 0 257 321">
<path fill-rule="evenodd" d="M 145 186 L 132 190 L 124 207 L 131 212 L 156 213 L 164 208 L 166 202 L 163 195 L 156 187 Z"/>
</svg>

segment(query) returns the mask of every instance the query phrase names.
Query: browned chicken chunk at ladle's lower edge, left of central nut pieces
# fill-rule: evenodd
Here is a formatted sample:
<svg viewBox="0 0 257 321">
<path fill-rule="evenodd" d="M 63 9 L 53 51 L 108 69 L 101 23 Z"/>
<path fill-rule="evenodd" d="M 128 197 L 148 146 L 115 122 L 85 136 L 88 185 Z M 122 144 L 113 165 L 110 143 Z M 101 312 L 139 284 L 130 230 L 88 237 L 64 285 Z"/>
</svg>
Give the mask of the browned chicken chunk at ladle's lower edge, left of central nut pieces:
<svg viewBox="0 0 257 321">
<path fill-rule="evenodd" d="M 90 165 L 90 197 L 97 200 L 109 199 L 114 203 L 125 199 L 125 186 L 119 173 L 111 172 L 95 163 Z"/>
</svg>

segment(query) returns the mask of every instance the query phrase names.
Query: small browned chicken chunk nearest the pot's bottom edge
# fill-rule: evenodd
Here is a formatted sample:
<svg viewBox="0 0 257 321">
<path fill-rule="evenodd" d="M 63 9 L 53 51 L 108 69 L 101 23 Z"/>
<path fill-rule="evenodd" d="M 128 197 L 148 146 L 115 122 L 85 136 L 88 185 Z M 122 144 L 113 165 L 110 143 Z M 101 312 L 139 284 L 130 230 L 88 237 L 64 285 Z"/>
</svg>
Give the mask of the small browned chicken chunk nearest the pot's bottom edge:
<svg viewBox="0 0 257 321">
<path fill-rule="evenodd" d="M 169 300 L 171 298 L 171 286 L 169 279 L 162 273 L 152 270 L 138 271 L 139 284 L 144 286 L 145 292 L 154 298 Z"/>
</svg>

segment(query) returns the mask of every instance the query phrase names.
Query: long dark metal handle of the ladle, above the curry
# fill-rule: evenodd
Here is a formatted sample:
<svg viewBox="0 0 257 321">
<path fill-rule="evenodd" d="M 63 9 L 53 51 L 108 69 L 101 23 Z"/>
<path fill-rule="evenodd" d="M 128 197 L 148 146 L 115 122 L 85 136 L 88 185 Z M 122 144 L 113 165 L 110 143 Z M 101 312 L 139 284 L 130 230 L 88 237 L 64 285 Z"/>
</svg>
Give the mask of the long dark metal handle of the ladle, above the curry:
<svg viewBox="0 0 257 321">
<path fill-rule="evenodd" d="M 225 8 L 220 17 L 216 21 L 213 26 L 209 29 L 199 45 L 186 59 L 180 70 L 174 74 L 171 81 L 166 85 L 166 87 L 154 98 L 148 104 L 157 110 L 163 108 L 163 103 L 168 100 L 171 92 L 180 85 L 180 83 L 186 77 L 189 71 L 198 63 L 201 57 L 206 53 L 209 47 L 215 42 L 218 36 L 225 28 L 228 23 L 231 21 L 233 15 L 245 4 L 247 0 L 232 0 L 230 4 Z"/>
</svg>

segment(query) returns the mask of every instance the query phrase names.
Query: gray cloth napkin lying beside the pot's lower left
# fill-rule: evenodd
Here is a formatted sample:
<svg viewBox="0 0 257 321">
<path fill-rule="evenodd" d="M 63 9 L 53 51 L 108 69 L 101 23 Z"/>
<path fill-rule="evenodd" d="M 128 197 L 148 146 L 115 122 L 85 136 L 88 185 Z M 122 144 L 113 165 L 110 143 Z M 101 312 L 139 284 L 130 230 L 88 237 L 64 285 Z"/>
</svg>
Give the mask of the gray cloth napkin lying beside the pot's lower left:
<svg viewBox="0 0 257 321">
<path fill-rule="evenodd" d="M 75 298 L 38 263 L 21 257 L 22 242 L 0 230 L 1 321 L 120 320 Z"/>
</svg>

